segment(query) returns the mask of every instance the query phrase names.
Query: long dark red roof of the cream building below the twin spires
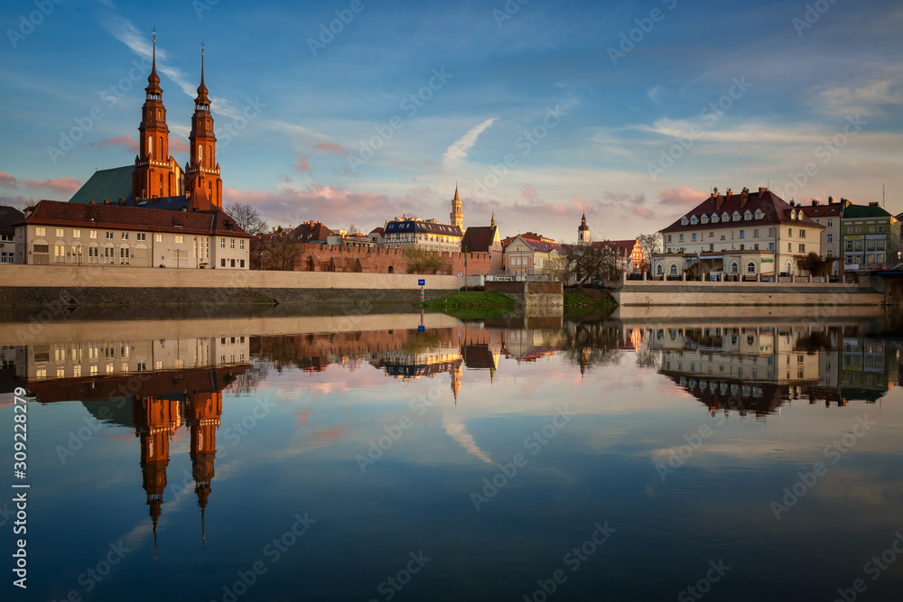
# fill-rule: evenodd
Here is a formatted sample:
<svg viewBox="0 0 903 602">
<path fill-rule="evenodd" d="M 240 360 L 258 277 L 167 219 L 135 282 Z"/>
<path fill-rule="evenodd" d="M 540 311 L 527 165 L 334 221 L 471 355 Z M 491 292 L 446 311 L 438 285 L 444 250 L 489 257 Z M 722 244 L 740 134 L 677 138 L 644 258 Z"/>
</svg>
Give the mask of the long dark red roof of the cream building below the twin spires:
<svg viewBox="0 0 903 602">
<path fill-rule="evenodd" d="M 176 232 L 250 238 L 222 209 L 212 211 L 169 211 L 119 205 L 85 205 L 59 200 L 42 200 L 25 224 L 52 227 L 107 228 L 145 232 Z"/>
</svg>

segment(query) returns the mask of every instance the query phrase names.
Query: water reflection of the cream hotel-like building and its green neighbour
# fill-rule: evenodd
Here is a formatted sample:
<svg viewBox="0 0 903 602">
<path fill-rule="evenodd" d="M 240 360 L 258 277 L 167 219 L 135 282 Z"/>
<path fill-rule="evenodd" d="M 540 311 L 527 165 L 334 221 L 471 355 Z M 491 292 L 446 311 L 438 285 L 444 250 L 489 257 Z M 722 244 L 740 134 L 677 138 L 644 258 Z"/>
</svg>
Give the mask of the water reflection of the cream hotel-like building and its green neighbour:
<svg viewBox="0 0 903 602">
<path fill-rule="evenodd" d="M 779 412 L 790 401 L 875 403 L 896 384 L 898 348 L 854 327 L 648 329 L 660 372 L 712 413 Z"/>
</svg>

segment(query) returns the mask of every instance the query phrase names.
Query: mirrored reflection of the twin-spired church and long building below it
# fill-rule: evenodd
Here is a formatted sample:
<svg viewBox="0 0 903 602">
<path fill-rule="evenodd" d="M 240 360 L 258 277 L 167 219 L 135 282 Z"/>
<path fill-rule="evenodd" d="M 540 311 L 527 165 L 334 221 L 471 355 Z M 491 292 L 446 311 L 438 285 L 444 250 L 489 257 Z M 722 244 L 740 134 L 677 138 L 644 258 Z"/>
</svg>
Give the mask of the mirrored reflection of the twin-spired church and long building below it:
<svg viewBox="0 0 903 602">
<path fill-rule="evenodd" d="M 203 545 L 223 391 L 247 384 L 249 338 L 82 341 L 17 347 L 15 356 L 16 380 L 39 403 L 78 400 L 98 420 L 135 430 L 154 557 L 170 442 L 185 425 Z"/>
</svg>

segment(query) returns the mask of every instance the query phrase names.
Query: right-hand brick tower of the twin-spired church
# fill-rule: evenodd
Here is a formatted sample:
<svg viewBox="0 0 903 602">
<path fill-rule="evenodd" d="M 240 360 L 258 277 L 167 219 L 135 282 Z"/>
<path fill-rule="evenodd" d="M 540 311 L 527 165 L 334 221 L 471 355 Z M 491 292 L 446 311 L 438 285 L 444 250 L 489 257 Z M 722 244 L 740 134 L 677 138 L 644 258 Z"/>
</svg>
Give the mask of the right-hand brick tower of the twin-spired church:
<svg viewBox="0 0 903 602">
<path fill-rule="evenodd" d="M 200 51 L 200 86 L 194 99 L 194 115 L 191 116 L 191 160 L 185 163 L 185 190 L 195 198 L 200 188 L 213 207 L 222 208 L 223 181 L 219 178 L 217 162 L 217 137 L 213 134 L 213 116 L 210 115 L 210 99 L 204 85 L 204 51 Z"/>
</svg>

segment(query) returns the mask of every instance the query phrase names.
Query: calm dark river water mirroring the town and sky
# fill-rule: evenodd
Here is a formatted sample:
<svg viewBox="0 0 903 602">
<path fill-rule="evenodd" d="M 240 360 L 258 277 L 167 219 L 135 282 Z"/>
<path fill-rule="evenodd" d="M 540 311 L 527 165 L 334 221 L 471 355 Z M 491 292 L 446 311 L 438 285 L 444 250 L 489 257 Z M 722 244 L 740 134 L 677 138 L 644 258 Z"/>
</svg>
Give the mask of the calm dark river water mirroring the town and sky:
<svg viewBox="0 0 903 602">
<path fill-rule="evenodd" d="M 0 325 L 4 599 L 898 599 L 884 320 L 164 318 Z"/>
</svg>

